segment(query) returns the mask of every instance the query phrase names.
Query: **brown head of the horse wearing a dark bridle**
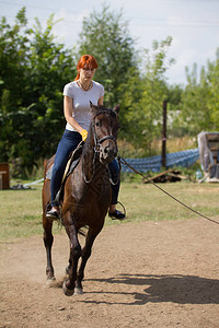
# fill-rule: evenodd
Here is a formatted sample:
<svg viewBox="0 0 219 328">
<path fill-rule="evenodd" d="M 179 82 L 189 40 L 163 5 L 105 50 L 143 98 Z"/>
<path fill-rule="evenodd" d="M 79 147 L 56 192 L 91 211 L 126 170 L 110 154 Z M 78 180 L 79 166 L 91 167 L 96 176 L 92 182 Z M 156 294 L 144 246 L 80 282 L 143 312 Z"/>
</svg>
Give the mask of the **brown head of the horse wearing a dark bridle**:
<svg viewBox="0 0 219 328">
<path fill-rule="evenodd" d="M 117 155 L 117 132 L 119 106 L 114 109 L 94 106 L 91 103 L 92 131 L 95 151 L 100 152 L 102 164 L 111 163 Z"/>
</svg>

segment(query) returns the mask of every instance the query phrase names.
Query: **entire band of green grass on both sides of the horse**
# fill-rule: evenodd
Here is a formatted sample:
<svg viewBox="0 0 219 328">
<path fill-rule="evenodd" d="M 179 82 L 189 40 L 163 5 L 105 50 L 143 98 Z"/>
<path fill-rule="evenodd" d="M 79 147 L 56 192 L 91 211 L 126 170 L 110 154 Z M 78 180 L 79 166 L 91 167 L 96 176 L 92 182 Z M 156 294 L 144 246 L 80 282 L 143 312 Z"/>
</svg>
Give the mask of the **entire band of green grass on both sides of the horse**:
<svg viewBox="0 0 219 328">
<path fill-rule="evenodd" d="M 159 186 L 204 215 L 212 219 L 219 215 L 217 184 L 181 181 Z M 41 195 L 42 186 L 27 190 L 0 190 L 0 243 L 9 243 L 32 235 L 43 236 Z M 137 223 L 143 220 L 189 220 L 193 218 L 205 220 L 169 198 L 154 186 L 142 181 L 124 181 L 119 200 L 126 207 L 127 220 L 118 222 L 106 218 L 106 225 Z M 59 232 L 58 224 L 54 224 L 54 233 Z"/>
</svg>

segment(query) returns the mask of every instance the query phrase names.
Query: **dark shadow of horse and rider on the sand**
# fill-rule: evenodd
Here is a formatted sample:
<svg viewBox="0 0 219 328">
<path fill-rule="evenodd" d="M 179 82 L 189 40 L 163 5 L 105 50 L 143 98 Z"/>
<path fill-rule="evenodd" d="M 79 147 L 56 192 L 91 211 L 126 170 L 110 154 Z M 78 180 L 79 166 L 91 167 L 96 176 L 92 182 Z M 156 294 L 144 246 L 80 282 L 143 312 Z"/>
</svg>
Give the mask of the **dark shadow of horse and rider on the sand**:
<svg viewBox="0 0 219 328">
<path fill-rule="evenodd" d="M 93 294 L 132 295 L 135 301 L 118 302 L 124 305 L 143 305 L 148 302 L 172 302 L 177 304 L 219 304 L 219 280 L 181 274 L 119 274 L 115 278 L 88 279 L 105 284 L 114 284 L 114 291 L 90 292 Z M 116 284 L 146 286 L 143 292 L 116 292 Z M 107 289 L 108 290 L 108 289 Z M 119 289 L 120 290 L 120 289 Z M 141 289 L 142 290 L 142 289 Z M 103 301 L 81 300 L 85 303 L 108 303 Z"/>
</svg>

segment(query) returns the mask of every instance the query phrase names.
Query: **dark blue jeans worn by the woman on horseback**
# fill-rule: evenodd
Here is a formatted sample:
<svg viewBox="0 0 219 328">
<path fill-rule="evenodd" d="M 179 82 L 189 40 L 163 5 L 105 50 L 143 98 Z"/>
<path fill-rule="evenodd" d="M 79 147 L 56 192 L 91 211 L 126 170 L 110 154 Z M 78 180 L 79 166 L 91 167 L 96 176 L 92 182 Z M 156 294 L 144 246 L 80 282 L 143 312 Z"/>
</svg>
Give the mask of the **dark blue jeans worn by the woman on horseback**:
<svg viewBox="0 0 219 328">
<path fill-rule="evenodd" d="M 79 132 L 65 130 L 62 134 L 62 138 L 56 151 L 50 180 L 51 206 L 58 206 L 55 199 L 61 186 L 62 176 L 65 173 L 66 164 L 69 159 L 69 154 L 77 149 L 81 140 L 82 137 Z M 119 167 L 117 161 L 114 160 L 112 163 L 110 163 L 108 168 L 111 171 L 113 181 L 116 183 L 118 180 L 118 183 L 115 186 L 112 185 L 112 204 L 116 204 L 119 191 Z"/>
</svg>

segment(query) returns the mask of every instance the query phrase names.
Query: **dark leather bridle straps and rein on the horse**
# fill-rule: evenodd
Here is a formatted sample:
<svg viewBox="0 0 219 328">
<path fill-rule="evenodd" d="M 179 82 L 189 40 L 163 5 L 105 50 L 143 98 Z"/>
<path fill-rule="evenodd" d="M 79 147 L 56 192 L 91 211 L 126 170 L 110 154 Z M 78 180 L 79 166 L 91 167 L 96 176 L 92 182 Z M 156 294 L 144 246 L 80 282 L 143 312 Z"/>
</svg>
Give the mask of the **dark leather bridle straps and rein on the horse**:
<svg viewBox="0 0 219 328">
<path fill-rule="evenodd" d="M 105 110 L 100 110 L 92 119 L 92 122 L 91 122 L 91 129 L 92 129 L 92 132 L 93 132 L 93 139 L 94 139 L 94 147 L 93 147 L 93 150 L 94 150 L 94 156 L 93 156 L 93 160 L 92 160 L 92 174 L 91 174 L 91 178 L 88 179 L 84 172 L 83 172 L 83 165 L 82 165 L 82 174 L 83 174 L 83 179 L 87 184 L 90 184 L 91 180 L 93 179 L 93 176 L 94 176 L 94 173 L 95 173 L 95 161 L 96 161 L 96 157 L 97 157 L 97 154 L 100 154 L 101 150 L 102 150 L 102 143 L 105 141 L 105 140 L 108 140 L 108 139 L 112 139 L 114 142 L 115 142 L 115 147 L 116 147 L 116 153 L 118 152 L 118 148 L 117 148 L 117 140 L 116 138 L 113 136 L 113 134 L 106 134 L 104 136 L 103 138 L 99 138 L 97 133 L 96 133 L 96 130 L 95 130 L 95 118 L 101 115 L 101 114 L 106 114 L 106 115 L 111 115 L 110 114 L 110 110 L 105 109 Z M 120 166 L 120 165 L 119 165 Z M 110 176 L 110 180 L 112 184 L 113 180 Z"/>
</svg>

